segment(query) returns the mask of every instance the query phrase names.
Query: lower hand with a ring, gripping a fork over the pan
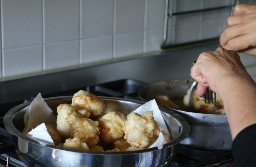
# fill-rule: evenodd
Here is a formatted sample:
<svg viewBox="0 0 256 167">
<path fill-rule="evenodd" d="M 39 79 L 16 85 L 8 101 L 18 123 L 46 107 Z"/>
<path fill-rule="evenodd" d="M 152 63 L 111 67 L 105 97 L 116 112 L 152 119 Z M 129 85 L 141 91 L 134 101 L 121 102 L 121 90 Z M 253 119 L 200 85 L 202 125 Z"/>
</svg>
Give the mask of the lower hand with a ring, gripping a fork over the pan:
<svg viewBox="0 0 256 167">
<path fill-rule="evenodd" d="M 222 47 L 217 48 L 216 51 L 201 53 L 190 71 L 191 77 L 199 83 L 197 85 L 199 96 L 205 93 L 207 87 L 220 93 L 220 87 L 225 86 L 222 84 L 223 80 L 229 77 L 240 79 L 249 76 L 237 52 Z"/>
</svg>

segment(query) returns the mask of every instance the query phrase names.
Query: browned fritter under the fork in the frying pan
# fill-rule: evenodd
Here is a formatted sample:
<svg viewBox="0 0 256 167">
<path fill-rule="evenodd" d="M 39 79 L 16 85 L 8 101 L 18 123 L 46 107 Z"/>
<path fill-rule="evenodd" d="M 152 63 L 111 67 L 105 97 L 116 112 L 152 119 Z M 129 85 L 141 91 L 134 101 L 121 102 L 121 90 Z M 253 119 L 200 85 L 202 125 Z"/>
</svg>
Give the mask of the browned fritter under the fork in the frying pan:
<svg viewBox="0 0 256 167">
<path fill-rule="evenodd" d="M 189 94 L 189 90 L 187 91 L 187 94 L 183 98 L 183 103 L 185 107 L 188 107 L 188 98 L 189 98 L 188 94 Z M 216 102 L 214 100 L 214 103 L 209 104 L 209 103 L 205 103 L 205 99 L 203 97 L 198 96 L 195 91 L 194 98 L 193 98 L 193 108 L 195 112 L 202 113 L 202 114 L 218 114 L 218 109 L 222 107 L 223 107 L 223 102 L 219 94 L 216 94 Z"/>
</svg>

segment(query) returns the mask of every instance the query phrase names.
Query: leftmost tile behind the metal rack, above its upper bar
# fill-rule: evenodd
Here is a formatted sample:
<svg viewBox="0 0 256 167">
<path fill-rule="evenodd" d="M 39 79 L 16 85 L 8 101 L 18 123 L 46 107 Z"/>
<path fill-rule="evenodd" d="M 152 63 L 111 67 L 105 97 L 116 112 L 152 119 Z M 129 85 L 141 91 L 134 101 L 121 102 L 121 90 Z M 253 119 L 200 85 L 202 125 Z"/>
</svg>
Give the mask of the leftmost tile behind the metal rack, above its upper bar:
<svg viewBox="0 0 256 167">
<path fill-rule="evenodd" d="M 185 12 L 200 9 L 200 0 L 174 0 L 173 12 Z"/>
</svg>

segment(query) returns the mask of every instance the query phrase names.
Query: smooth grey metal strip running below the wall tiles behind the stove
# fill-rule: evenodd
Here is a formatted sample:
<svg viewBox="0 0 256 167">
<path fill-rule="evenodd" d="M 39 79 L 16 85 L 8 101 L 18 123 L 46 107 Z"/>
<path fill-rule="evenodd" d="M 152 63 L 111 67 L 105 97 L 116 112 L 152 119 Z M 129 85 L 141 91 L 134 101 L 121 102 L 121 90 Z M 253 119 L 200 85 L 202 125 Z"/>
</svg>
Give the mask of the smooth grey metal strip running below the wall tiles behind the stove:
<svg viewBox="0 0 256 167">
<path fill-rule="evenodd" d="M 139 55 L 74 67 L 69 70 L 45 72 L 2 79 L 0 104 L 34 99 L 38 92 L 51 93 L 77 87 L 90 86 L 119 79 L 136 79 L 146 83 L 190 78 L 192 62 L 204 51 L 216 50 L 219 43 L 191 45 L 162 52 Z"/>
</svg>

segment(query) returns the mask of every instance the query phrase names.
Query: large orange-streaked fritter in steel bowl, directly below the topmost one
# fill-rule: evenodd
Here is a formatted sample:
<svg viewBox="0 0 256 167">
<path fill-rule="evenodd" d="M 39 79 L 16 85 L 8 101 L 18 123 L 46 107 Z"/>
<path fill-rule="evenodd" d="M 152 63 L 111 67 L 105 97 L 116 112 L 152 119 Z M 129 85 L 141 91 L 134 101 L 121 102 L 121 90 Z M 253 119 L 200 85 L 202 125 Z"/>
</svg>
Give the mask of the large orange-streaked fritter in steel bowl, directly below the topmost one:
<svg viewBox="0 0 256 167">
<path fill-rule="evenodd" d="M 70 115 L 67 118 L 70 124 L 70 136 L 79 138 L 81 142 L 87 143 L 89 147 L 97 144 L 99 140 L 99 122 L 89 118 L 80 118 Z"/>
</svg>

